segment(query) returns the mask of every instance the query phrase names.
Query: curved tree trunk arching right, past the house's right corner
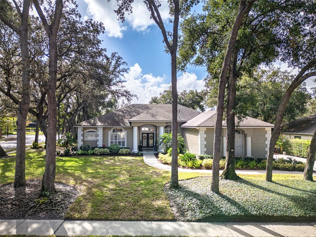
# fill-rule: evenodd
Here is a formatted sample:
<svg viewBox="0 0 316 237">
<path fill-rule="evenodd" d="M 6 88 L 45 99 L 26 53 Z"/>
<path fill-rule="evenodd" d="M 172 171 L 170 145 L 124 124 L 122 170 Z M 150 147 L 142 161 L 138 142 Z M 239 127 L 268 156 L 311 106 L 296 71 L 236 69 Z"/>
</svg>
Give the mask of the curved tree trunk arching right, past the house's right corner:
<svg viewBox="0 0 316 237">
<path fill-rule="evenodd" d="M 292 92 L 301 85 L 307 78 L 311 76 L 316 76 L 316 72 L 309 72 L 304 75 L 304 73 L 309 70 L 313 65 L 316 64 L 316 59 L 308 63 L 298 74 L 295 76 L 293 82 L 286 90 L 285 95 L 283 96 L 281 103 L 279 105 L 278 111 L 276 113 L 276 120 L 274 124 L 274 129 L 270 138 L 269 149 L 268 149 L 268 157 L 267 157 L 267 167 L 266 167 L 266 175 L 265 180 L 268 182 L 272 182 L 272 162 L 273 162 L 273 155 L 274 149 L 276 146 L 276 141 L 280 136 L 281 131 L 281 124 L 284 116 L 285 108 L 289 102 L 290 96 Z"/>
</svg>

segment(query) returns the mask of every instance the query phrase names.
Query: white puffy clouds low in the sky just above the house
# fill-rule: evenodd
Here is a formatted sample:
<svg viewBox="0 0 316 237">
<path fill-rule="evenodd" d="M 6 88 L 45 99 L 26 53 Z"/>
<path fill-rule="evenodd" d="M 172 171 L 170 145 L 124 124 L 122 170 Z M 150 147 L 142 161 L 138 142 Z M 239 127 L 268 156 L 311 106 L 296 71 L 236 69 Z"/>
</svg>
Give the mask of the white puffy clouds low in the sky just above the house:
<svg viewBox="0 0 316 237">
<path fill-rule="evenodd" d="M 151 97 L 158 96 L 159 93 L 167 90 L 171 83 L 167 83 L 167 77 L 153 76 L 152 74 L 142 74 L 141 67 L 136 63 L 130 67 L 130 70 L 124 75 L 126 88 L 131 91 L 132 94 L 136 94 L 137 98 L 132 100 L 132 103 L 149 102 Z M 184 73 L 178 77 L 178 91 L 183 90 L 198 90 L 201 91 L 204 87 L 203 80 L 197 80 L 197 76 L 194 73 Z"/>
</svg>

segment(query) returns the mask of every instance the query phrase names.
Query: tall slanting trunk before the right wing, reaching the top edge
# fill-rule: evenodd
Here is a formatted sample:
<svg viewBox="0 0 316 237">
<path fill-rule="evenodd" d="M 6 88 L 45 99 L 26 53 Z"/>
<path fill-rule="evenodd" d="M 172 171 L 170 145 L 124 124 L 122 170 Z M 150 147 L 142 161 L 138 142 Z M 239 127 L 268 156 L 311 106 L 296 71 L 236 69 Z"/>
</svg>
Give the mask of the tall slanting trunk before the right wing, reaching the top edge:
<svg viewBox="0 0 316 237">
<path fill-rule="evenodd" d="M 230 35 L 225 58 L 223 61 L 221 76 L 218 86 L 218 95 L 217 95 L 217 112 L 216 112 L 216 122 L 214 128 L 214 151 L 213 151 L 213 167 L 212 167 L 212 183 L 211 189 L 215 193 L 219 193 L 219 161 L 221 159 L 221 140 L 222 140 L 222 122 L 223 122 L 223 113 L 224 113 L 224 97 L 225 97 L 225 85 L 226 77 L 229 67 L 229 61 L 233 54 L 233 49 L 237 39 L 238 31 L 240 25 L 247 12 L 252 7 L 254 1 L 250 1 L 246 4 L 246 0 L 241 0 L 239 4 L 238 14 L 234 22 L 232 33 Z"/>
</svg>

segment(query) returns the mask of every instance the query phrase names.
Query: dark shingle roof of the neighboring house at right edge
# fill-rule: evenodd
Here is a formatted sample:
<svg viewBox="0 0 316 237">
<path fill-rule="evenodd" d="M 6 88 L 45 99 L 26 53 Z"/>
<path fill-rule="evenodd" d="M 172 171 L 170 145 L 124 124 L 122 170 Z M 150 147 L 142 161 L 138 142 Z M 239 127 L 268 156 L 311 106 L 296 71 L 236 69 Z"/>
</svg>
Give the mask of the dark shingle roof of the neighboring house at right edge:
<svg viewBox="0 0 316 237">
<path fill-rule="evenodd" d="M 316 131 L 316 114 L 293 120 L 282 125 L 282 132 L 313 134 Z"/>
</svg>

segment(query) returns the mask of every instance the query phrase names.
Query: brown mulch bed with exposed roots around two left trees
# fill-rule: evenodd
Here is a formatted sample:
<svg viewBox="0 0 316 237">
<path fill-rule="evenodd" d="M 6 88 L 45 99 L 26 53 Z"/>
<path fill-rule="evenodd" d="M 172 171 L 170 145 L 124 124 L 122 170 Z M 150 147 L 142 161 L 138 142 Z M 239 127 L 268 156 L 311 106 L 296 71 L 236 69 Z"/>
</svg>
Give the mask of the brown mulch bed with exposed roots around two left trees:
<svg viewBox="0 0 316 237">
<path fill-rule="evenodd" d="M 25 187 L 0 186 L 0 219 L 64 219 L 79 196 L 73 186 L 55 182 L 56 193 L 40 198 L 41 180 L 28 180 Z"/>
</svg>

